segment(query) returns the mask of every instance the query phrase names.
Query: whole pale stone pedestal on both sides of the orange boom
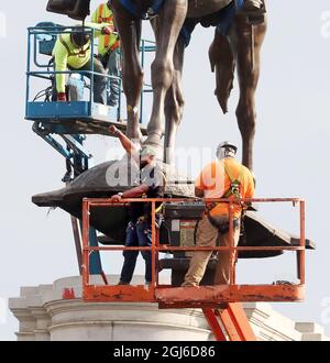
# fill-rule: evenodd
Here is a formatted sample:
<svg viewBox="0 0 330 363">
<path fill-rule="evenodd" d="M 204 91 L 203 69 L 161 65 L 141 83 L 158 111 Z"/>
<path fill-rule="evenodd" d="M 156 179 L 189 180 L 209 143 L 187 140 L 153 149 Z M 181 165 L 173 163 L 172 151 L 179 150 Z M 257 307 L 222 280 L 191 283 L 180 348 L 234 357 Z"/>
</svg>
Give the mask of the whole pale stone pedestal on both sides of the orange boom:
<svg viewBox="0 0 330 363">
<path fill-rule="evenodd" d="M 111 282 L 118 279 L 109 276 Z M 95 283 L 101 282 L 96 277 Z M 143 278 L 133 283 L 143 284 Z M 9 308 L 20 322 L 19 341 L 213 340 L 201 310 L 160 310 L 156 304 L 87 304 L 81 299 L 80 277 L 22 287 Z M 246 304 L 244 308 L 260 340 L 327 340 L 321 327 L 295 322 L 268 304 Z"/>
</svg>

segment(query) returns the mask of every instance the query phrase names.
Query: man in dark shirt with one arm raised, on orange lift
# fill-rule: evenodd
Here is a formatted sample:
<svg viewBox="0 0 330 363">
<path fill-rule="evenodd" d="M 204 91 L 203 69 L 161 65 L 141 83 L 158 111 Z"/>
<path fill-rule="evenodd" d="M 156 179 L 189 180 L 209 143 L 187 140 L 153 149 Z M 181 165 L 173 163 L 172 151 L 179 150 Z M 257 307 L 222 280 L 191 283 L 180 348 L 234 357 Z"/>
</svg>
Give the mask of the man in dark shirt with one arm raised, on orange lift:
<svg viewBox="0 0 330 363">
<path fill-rule="evenodd" d="M 165 176 L 156 165 L 156 151 L 146 146 L 140 151 L 134 143 L 127 138 L 116 127 L 109 129 L 111 135 L 119 138 L 123 148 L 140 165 L 139 180 L 135 180 L 136 187 L 120 193 L 111 198 L 113 202 L 120 202 L 122 199 L 136 198 L 164 198 Z M 160 207 L 160 205 L 157 206 Z M 150 202 L 130 204 L 131 221 L 127 229 L 127 248 L 151 248 L 152 246 L 152 210 Z M 145 261 L 145 285 L 152 283 L 152 253 L 151 251 L 141 252 Z M 124 263 L 121 272 L 119 285 L 130 285 L 139 256 L 139 251 L 124 251 Z"/>
</svg>

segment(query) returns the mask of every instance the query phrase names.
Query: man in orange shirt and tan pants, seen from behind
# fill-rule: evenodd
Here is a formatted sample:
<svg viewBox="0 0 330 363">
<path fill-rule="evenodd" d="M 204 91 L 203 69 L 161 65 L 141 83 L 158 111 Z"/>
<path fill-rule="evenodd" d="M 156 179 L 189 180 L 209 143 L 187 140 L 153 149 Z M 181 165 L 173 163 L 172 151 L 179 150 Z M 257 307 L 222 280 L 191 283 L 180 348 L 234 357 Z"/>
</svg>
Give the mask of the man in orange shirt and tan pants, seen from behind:
<svg viewBox="0 0 330 363">
<path fill-rule="evenodd" d="M 253 198 L 252 173 L 235 161 L 238 147 L 229 142 L 219 145 L 218 161 L 206 166 L 197 178 L 195 194 L 206 199 Z M 233 204 L 233 243 L 238 246 L 241 235 L 241 216 L 244 206 Z M 228 202 L 208 202 L 197 229 L 197 248 L 230 246 Z M 205 275 L 211 251 L 196 251 L 183 286 L 198 286 Z M 230 267 L 235 263 L 235 253 L 220 251 L 215 275 L 215 285 L 230 284 Z"/>
</svg>

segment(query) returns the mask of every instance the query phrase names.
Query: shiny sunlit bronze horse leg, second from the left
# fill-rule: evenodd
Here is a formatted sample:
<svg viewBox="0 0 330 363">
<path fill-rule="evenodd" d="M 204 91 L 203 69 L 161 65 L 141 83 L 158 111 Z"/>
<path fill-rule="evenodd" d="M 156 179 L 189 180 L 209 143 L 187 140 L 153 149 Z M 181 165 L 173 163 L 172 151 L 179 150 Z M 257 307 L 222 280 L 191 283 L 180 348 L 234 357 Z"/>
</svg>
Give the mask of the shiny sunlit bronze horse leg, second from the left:
<svg viewBox="0 0 330 363">
<path fill-rule="evenodd" d="M 158 14 L 157 51 L 152 64 L 153 110 L 145 141 L 145 144 L 157 147 L 161 147 L 161 139 L 165 131 L 165 97 L 173 85 L 175 75 L 174 51 L 187 9 L 187 0 L 167 0 Z"/>
</svg>

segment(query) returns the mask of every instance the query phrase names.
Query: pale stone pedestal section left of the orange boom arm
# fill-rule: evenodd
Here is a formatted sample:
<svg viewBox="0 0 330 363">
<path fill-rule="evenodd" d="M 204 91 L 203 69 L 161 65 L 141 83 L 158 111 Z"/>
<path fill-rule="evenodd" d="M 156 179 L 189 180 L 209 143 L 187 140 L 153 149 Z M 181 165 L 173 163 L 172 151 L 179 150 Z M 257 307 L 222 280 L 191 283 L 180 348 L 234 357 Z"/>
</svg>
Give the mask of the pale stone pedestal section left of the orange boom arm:
<svg viewBox="0 0 330 363">
<path fill-rule="evenodd" d="M 119 276 L 109 276 L 109 280 L 119 280 Z M 143 278 L 133 283 L 143 284 Z M 74 298 L 64 299 L 67 296 Z M 9 304 L 20 321 L 16 333 L 20 341 L 211 339 L 200 310 L 160 310 L 156 304 L 86 304 L 81 300 L 80 277 L 22 287 L 21 297 L 10 299 Z"/>
</svg>

